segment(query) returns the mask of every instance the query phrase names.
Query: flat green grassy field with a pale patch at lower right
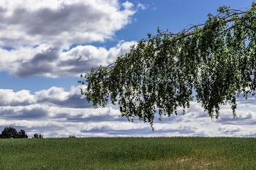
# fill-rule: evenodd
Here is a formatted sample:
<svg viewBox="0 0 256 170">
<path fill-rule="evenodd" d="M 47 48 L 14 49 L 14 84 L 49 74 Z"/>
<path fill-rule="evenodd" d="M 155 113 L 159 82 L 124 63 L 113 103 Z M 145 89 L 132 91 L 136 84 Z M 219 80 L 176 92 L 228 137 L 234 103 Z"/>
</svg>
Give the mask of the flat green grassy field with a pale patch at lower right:
<svg viewBox="0 0 256 170">
<path fill-rule="evenodd" d="M 256 169 L 256 138 L 0 139 L 0 169 Z"/>
</svg>

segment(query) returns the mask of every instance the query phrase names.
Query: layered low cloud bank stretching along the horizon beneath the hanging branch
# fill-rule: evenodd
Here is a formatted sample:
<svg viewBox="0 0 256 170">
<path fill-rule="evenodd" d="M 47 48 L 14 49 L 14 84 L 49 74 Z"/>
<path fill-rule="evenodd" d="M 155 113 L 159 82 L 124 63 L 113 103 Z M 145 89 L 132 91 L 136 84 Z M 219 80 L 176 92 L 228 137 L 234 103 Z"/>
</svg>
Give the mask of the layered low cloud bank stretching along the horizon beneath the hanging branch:
<svg viewBox="0 0 256 170">
<path fill-rule="evenodd" d="M 148 123 L 135 118 L 129 122 L 117 108 L 92 108 L 80 88 L 52 87 L 31 94 L 29 90 L 1 89 L 0 128 L 12 126 L 45 137 L 56 136 L 255 136 L 255 112 L 238 110 L 233 118 L 230 109 L 220 110 L 219 120 L 211 120 L 197 102 L 191 102 L 187 113 L 170 115 L 157 120 L 154 131 Z M 197 110 L 197 112 L 196 112 Z M 206 115 L 206 116 L 204 116 Z M 219 128 L 218 128 L 219 127 Z"/>
</svg>

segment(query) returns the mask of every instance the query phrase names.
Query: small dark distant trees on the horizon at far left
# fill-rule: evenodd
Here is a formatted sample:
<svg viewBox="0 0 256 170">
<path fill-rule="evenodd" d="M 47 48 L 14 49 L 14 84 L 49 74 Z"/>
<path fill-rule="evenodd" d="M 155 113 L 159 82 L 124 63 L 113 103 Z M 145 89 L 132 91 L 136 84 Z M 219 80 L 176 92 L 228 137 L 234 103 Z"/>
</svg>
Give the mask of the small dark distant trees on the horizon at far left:
<svg viewBox="0 0 256 170">
<path fill-rule="evenodd" d="M 26 134 L 26 131 L 23 129 L 20 129 L 20 131 L 17 131 L 13 127 L 7 127 L 4 128 L 3 131 L 1 131 L 0 138 L 4 139 L 20 139 L 20 138 L 29 138 L 28 134 Z M 34 134 L 32 138 L 42 138 L 41 134 Z"/>
</svg>

